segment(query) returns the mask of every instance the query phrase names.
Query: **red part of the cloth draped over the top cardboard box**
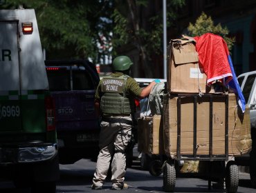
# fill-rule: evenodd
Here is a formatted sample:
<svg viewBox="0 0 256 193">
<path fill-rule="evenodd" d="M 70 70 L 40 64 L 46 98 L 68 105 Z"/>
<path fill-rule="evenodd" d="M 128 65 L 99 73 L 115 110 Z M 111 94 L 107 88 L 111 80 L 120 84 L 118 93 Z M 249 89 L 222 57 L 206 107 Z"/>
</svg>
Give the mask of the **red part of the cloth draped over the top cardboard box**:
<svg viewBox="0 0 256 193">
<path fill-rule="evenodd" d="M 222 37 L 206 33 L 196 40 L 196 52 L 199 54 L 199 64 L 207 75 L 207 83 L 226 79 L 226 83 L 232 79 L 232 72 L 228 63 L 228 46 Z"/>
</svg>

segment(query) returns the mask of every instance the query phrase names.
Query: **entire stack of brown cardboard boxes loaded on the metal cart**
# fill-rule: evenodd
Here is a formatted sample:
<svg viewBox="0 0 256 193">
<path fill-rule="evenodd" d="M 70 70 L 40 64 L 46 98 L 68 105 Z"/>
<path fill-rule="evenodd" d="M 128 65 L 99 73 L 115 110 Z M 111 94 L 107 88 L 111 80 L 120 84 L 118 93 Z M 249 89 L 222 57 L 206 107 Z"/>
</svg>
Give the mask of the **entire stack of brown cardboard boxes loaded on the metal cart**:
<svg viewBox="0 0 256 193">
<path fill-rule="evenodd" d="M 207 87 L 207 77 L 199 66 L 195 42 L 191 39 L 172 40 L 168 46 L 168 53 L 167 92 L 169 94 L 164 97 L 163 114 L 138 120 L 138 150 L 167 156 L 176 156 L 178 148 L 181 148 L 179 149 L 181 155 L 194 156 L 194 147 L 196 147 L 196 156 L 226 155 L 226 150 L 228 155 L 235 156 L 250 152 L 249 110 L 246 108 L 243 114 L 237 108 L 235 94 L 228 94 L 221 89 L 217 92 Z M 201 96 L 201 93 L 204 95 Z M 181 98 L 181 112 L 178 119 L 179 94 L 188 94 L 188 96 Z M 194 134 L 195 96 L 199 96 L 196 101 L 196 134 Z M 209 96 L 212 96 L 212 120 L 210 120 Z M 226 105 L 228 105 L 227 117 Z M 178 120 L 181 123 L 179 144 Z M 211 124 L 212 137 L 210 137 Z M 225 141 L 226 136 L 228 143 Z M 194 141 L 196 146 L 193 145 Z"/>
</svg>

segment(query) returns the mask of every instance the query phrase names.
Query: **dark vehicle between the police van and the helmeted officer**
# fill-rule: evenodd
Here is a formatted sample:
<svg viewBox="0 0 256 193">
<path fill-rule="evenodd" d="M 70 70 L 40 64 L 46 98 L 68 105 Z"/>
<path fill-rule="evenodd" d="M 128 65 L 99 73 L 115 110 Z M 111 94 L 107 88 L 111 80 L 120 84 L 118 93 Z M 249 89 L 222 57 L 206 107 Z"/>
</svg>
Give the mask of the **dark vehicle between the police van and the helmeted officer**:
<svg viewBox="0 0 256 193">
<path fill-rule="evenodd" d="M 55 101 L 60 163 L 97 159 L 100 123 L 94 94 L 100 81 L 95 65 L 86 60 L 45 61 Z"/>
</svg>

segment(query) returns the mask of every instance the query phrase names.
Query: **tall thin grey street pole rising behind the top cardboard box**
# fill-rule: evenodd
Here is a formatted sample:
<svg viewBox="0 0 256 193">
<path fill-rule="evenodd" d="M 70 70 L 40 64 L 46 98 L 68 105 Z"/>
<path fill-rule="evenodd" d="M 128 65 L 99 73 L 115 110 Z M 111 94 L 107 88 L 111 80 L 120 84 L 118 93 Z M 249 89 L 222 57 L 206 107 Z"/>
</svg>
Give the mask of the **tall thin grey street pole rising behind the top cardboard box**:
<svg viewBox="0 0 256 193">
<path fill-rule="evenodd" d="M 163 0 L 163 77 L 167 77 L 166 0 Z"/>
</svg>

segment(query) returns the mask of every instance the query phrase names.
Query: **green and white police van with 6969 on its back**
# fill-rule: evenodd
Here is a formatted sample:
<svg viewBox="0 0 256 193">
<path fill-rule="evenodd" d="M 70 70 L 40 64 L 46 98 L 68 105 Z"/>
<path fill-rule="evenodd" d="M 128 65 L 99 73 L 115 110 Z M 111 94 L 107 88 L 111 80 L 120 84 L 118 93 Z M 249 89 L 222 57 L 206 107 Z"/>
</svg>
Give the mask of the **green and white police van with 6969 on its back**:
<svg viewBox="0 0 256 193">
<path fill-rule="evenodd" d="M 0 175 L 55 192 L 55 108 L 34 10 L 0 10 L 0 68 Z"/>
</svg>

